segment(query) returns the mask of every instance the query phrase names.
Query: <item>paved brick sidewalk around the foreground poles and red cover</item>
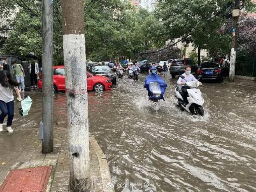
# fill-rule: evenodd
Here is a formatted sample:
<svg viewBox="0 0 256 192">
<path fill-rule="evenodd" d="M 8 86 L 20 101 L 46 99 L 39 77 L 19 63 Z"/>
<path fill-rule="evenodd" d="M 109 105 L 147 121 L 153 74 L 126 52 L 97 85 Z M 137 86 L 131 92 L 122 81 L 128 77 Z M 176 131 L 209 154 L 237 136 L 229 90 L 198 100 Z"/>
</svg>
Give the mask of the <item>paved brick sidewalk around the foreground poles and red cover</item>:
<svg viewBox="0 0 256 192">
<path fill-rule="evenodd" d="M 54 152 L 51 154 L 41 153 L 38 130 L 14 130 L 12 134 L 0 132 L 0 185 L 10 170 L 52 166 L 46 191 L 70 192 L 66 128 L 54 129 Z M 90 137 L 90 175 L 91 192 L 113 192 L 106 188 L 111 181 L 108 163 L 94 137 Z"/>
</svg>

